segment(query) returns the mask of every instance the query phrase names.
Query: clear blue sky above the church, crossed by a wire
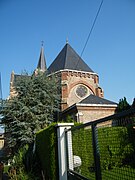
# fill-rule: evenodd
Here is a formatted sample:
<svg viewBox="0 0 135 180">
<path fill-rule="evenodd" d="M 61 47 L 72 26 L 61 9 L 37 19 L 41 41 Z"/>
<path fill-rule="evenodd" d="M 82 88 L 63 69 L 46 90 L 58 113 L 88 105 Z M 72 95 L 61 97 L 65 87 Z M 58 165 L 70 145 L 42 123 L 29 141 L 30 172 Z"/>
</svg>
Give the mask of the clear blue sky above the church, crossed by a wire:
<svg viewBox="0 0 135 180">
<path fill-rule="evenodd" d="M 3 98 L 12 70 L 32 72 L 44 41 L 47 66 L 66 43 L 81 54 L 101 0 L 0 0 Z M 99 75 L 106 99 L 135 97 L 135 1 L 104 0 L 82 56 Z"/>
</svg>

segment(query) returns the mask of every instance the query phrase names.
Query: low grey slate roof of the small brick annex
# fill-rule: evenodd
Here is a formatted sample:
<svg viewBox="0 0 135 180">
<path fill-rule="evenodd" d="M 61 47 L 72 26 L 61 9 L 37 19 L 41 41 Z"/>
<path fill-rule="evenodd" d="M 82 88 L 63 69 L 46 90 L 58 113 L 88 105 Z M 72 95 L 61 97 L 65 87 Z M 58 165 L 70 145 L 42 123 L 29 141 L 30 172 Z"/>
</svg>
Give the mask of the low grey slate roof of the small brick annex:
<svg viewBox="0 0 135 180">
<path fill-rule="evenodd" d="M 79 102 L 78 104 L 108 104 L 108 105 L 117 105 L 117 103 L 95 96 L 93 94 L 90 94 L 88 97 L 86 97 L 85 99 L 83 99 L 81 102 Z"/>
</svg>

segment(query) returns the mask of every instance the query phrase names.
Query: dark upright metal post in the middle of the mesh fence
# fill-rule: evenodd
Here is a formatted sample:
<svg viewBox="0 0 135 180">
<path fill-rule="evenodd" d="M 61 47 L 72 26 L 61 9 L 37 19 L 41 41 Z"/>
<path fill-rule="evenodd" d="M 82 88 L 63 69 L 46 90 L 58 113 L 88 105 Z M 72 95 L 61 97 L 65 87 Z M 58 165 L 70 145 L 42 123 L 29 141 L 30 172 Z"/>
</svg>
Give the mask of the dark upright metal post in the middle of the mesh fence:
<svg viewBox="0 0 135 180">
<path fill-rule="evenodd" d="M 102 180 L 101 167 L 100 167 L 100 153 L 98 147 L 98 134 L 97 134 L 97 127 L 95 124 L 92 124 L 92 140 L 93 140 L 93 153 L 94 153 L 96 180 Z"/>
</svg>

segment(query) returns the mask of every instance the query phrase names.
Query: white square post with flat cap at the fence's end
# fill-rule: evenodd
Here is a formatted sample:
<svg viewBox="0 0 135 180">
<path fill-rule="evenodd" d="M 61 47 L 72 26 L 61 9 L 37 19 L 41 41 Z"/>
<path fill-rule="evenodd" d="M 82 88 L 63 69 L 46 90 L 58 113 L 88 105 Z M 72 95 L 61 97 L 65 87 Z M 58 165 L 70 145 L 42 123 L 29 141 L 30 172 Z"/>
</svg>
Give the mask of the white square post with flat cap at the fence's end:
<svg viewBox="0 0 135 180">
<path fill-rule="evenodd" d="M 57 137 L 58 137 L 59 180 L 67 180 L 67 152 L 66 152 L 65 129 L 69 129 L 73 125 L 74 123 L 58 123 L 56 125 Z M 68 142 L 72 142 L 71 136 L 68 137 L 67 140 Z M 71 154 L 72 152 L 69 152 L 68 150 L 68 155 L 70 158 L 72 156 Z"/>
</svg>

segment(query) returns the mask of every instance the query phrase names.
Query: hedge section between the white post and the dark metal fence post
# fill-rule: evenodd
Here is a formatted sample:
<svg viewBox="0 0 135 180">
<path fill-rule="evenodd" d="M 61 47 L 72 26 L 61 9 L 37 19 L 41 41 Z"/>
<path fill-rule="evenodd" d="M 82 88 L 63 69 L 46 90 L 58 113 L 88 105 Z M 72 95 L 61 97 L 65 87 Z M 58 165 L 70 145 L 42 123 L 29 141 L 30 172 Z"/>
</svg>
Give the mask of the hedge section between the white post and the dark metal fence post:
<svg viewBox="0 0 135 180">
<path fill-rule="evenodd" d="M 79 129 L 72 133 L 73 155 L 79 156 L 82 165 L 74 170 L 78 173 L 95 179 L 94 156 L 92 147 L 92 132 L 90 129 Z"/>
</svg>

